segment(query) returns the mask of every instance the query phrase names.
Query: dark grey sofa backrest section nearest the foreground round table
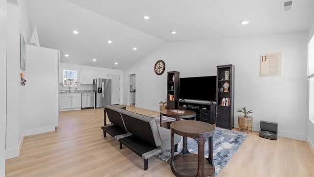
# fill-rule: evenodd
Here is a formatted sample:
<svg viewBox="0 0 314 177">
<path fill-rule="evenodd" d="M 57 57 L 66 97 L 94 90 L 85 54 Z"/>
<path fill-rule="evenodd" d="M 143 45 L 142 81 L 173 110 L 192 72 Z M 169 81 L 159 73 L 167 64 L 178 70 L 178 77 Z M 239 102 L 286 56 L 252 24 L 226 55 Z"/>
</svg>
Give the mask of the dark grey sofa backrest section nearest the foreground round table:
<svg viewBox="0 0 314 177">
<path fill-rule="evenodd" d="M 121 115 L 128 132 L 160 148 L 161 139 L 154 118 L 127 110 Z"/>
</svg>

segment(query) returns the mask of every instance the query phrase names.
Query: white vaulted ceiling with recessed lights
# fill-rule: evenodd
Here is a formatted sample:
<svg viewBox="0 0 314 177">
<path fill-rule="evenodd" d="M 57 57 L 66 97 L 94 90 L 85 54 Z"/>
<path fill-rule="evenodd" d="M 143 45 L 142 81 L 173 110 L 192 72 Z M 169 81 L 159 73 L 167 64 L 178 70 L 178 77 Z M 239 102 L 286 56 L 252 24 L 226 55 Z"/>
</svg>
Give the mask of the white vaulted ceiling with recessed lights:
<svg viewBox="0 0 314 177">
<path fill-rule="evenodd" d="M 36 24 L 40 46 L 59 50 L 60 62 L 121 70 L 166 42 L 304 32 L 314 17 L 314 0 L 292 0 L 285 8 L 284 0 L 26 3 L 31 32 Z"/>
</svg>

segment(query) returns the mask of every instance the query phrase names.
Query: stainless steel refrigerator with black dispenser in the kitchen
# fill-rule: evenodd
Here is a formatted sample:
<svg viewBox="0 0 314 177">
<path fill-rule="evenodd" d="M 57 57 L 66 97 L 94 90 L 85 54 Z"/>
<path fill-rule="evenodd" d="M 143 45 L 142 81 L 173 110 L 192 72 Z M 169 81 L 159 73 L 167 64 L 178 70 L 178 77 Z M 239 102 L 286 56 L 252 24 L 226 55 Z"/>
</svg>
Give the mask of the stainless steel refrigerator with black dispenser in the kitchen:
<svg viewBox="0 0 314 177">
<path fill-rule="evenodd" d="M 95 108 L 111 105 L 111 79 L 94 79 L 93 92 L 95 92 Z"/>
</svg>

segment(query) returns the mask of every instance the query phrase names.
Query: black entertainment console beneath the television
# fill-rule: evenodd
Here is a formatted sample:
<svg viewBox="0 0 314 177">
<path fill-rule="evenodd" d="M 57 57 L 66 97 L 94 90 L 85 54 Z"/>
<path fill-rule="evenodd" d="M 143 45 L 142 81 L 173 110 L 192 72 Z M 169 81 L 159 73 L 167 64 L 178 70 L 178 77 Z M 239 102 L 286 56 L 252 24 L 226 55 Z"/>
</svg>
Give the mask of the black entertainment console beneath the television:
<svg viewBox="0 0 314 177">
<path fill-rule="evenodd" d="M 196 120 L 207 122 L 209 124 L 216 123 L 216 115 L 215 115 L 215 108 L 216 102 L 215 101 L 179 101 L 179 109 L 187 109 L 196 112 Z"/>
</svg>

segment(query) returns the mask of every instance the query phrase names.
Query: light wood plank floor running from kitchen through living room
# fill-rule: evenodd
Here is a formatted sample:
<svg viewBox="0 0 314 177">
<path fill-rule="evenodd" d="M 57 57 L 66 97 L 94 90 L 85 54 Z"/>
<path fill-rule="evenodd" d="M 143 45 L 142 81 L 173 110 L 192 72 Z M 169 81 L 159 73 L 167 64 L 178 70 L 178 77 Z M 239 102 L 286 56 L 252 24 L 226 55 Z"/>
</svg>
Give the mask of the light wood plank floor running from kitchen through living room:
<svg viewBox="0 0 314 177">
<path fill-rule="evenodd" d="M 159 115 L 134 105 L 127 110 Z M 56 131 L 25 137 L 20 156 L 6 160 L 5 176 L 174 177 L 170 165 L 155 157 L 144 171 L 143 158 L 128 148 L 119 150 L 111 136 L 104 138 L 103 117 L 103 109 L 60 112 Z M 283 137 L 268 140 L 250 132 L 219 177 L 252 176 L 314 177 L 314 155 L 306 142 Z"/>
</svg>

